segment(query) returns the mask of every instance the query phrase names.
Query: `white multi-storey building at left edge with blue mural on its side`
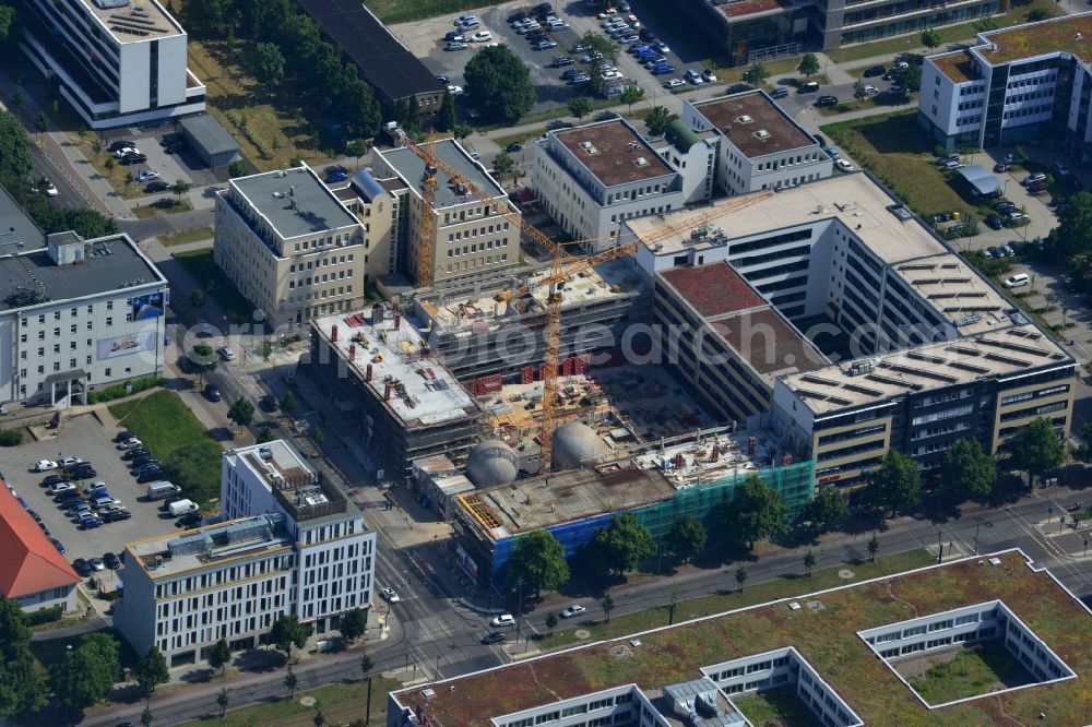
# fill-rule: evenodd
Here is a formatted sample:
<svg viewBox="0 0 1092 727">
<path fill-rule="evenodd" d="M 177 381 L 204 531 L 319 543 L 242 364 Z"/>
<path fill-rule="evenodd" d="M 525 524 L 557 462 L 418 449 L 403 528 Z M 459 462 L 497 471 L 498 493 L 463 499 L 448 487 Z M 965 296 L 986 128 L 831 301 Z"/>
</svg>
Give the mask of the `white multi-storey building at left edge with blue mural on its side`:
<svg viewBox="0 0 1092 727">
<path fill-rule="evenodd" d="M 127 235 L 50 235 L 0 258 L 0 403 L 87 403 L 163 370 L 167 279 Z"/>
</svg>

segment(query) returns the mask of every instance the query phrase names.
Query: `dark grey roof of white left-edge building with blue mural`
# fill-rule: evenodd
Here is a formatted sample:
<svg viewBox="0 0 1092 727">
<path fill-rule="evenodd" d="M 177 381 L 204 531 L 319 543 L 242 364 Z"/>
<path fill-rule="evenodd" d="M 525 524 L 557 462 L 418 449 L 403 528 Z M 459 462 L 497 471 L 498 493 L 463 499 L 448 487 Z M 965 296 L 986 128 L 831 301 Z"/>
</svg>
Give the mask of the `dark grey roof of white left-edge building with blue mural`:
<svg viewBox="0 0 1092 727">
<path fill-rule="evenodd" d="M 84 245 L 84 261 L 70 265 L 55 265 L 46 250 L 0 258 L 0 310 L 16 308 L 7 298 L 21 290 L 45 294 L 56 302 L 166 282 L 128 235 L 100 237 Z"/>
</svg>

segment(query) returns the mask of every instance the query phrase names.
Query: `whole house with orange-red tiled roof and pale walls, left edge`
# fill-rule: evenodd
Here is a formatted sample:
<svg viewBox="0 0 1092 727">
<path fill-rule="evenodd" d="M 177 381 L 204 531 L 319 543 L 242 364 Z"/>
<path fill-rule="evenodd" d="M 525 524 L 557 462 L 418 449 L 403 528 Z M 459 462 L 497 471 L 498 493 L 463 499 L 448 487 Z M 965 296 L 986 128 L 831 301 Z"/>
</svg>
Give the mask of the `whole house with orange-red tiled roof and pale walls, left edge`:
<svg viewBox="0 0 1092 727">
<path fill-rule="evenodd" d="M 0 487 L 0 596 L 25 612 L 75 610 L 80 576 L 4 482 Z"/>
</svg>

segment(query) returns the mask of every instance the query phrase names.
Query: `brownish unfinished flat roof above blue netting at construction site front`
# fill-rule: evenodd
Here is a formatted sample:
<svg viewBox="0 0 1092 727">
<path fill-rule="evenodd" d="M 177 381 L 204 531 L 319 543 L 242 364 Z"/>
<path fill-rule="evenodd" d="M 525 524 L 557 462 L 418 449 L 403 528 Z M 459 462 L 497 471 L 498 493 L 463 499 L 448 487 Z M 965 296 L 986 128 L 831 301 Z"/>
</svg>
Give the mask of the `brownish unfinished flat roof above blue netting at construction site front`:
<svg viewBox="0 0 1092 727">
<path fill-rule="evenodd" d="M 675 494 L 658 469 L 586 467 L 478 488 L 459 496 L 492 540 L 571 523 L 593 515 L 624 512 Z"/>
</svg>

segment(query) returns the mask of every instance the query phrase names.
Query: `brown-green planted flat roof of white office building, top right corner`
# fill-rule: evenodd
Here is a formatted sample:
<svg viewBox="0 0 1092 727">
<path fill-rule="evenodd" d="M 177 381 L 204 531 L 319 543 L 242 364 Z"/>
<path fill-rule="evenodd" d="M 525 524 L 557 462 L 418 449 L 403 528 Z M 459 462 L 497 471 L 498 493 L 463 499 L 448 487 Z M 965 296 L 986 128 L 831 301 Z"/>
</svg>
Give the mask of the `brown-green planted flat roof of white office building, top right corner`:
<svg viewBox="0 0 1092 727">
<path fill-rule="evenodd" d="M 989 31 L 978 38 L 994 48 L 975 46 L 972 52 L 990 65 L 1047 53 L 1072 53 L 1088 63 L 1092 61 L 1092 13 Z"/>
</svg>

